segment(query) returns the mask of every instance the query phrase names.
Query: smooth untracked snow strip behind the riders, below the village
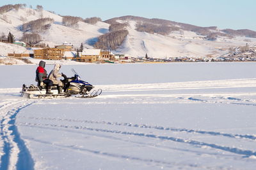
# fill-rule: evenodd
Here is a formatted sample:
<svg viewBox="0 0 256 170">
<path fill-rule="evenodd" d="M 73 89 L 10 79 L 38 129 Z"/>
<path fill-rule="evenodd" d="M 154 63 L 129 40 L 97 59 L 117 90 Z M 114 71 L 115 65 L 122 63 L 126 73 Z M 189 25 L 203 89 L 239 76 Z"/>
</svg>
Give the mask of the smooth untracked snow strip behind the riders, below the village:
<svg viewBox="0 0 256 170">
<path fill-rule="evenodd" d="M 35 83 L 36 67 L 0 66 L 3 80 L 0 87 L 14 88 L 21 87 L 23 83 Z M 47 65 L 47 73 L 52 68 L 53 65 Z M 72 76 L 72 68 L 93 85 L 115 85 L 255 78 L 256 62 L 63 65 L 61 72 Z"/>
</svg>

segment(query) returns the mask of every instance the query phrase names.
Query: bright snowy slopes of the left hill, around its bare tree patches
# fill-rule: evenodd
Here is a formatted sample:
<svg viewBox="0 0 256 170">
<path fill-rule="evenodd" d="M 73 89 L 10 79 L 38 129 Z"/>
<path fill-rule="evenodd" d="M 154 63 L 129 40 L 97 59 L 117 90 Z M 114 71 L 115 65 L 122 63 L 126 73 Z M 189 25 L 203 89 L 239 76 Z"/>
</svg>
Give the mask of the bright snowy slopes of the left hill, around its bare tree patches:
<svg viewBox="0 0 256 170">
<path fill-rule="evenodd" d="M 62 24 L 62 18 L 59 15 L 49 11 L 33 10 L 31 8 L 20 8 L 19 10 L 12 9 L 0 15 L 0 33 L 7 35 L 9 32 L 15 36 L 15 39 L 21 39 L 24 32 L 21 31 L 23 24 L 39 18 L 52 18 L 54 22 L 48 29 L 42 32 L 36 32 L 42 37 L 40 43 L 47 43 L 49 46 L 60 45 L 67 41 L 74 46 L 80 46 L 81 43 L 90 44 L 90 40 L 97 38 L 104 32 L 108 32 L 109 24 L 98 22 L 95 25 L 78 22 L 74 27 L 67 27 Z M 93 48 L 88 45 L 88 48 Z M 0 55 L 5 55 L 1 53 Z"/>
</svg>

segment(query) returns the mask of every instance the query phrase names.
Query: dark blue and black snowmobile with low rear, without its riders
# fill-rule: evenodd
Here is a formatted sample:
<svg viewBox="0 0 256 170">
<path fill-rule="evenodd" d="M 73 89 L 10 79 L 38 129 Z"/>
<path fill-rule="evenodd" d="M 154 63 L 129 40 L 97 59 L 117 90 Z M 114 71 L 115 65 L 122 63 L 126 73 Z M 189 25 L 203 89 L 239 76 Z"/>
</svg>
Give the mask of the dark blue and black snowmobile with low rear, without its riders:
<svg viewBox="0 0 256 170">
<path fill-rule="evenodd" d="M 63 76 L 63 94 L 58 94 L 57 86 L 53 86 L 51 89 L 52 94 L 46 94 L 45 86 L 30 85 L 29 87 L 25 84 L 22 85 L 20 96 L 28 97 L 29 99 L 40 99 L 40 98 L 61 98 L 61 97 L 81 97 L 81 98 L 92 98 L 97 97 L 102 93 L 102 89 L 93 90 L 94 87 L 90 83 L 81 80 L 79 74 L 74 69 L 74 76 L 68 78 L 65 74 Z M 78 96 L 77 96 L 78 95 Z"/>
</svg>

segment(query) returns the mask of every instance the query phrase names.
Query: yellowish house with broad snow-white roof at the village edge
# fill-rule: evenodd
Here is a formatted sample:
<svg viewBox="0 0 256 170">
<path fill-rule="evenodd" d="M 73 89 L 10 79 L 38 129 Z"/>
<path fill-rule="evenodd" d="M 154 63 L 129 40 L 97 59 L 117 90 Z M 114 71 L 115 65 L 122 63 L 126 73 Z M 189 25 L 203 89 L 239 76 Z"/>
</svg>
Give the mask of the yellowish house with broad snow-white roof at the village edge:
<svg viewBox="0 0 256 170">
<path fill-rule="evenodd" d="M 98 62 L 100 57 L 100 49 L 84 49 L 81 55 L 73 60 L 78 62 Z"/>
</svg>

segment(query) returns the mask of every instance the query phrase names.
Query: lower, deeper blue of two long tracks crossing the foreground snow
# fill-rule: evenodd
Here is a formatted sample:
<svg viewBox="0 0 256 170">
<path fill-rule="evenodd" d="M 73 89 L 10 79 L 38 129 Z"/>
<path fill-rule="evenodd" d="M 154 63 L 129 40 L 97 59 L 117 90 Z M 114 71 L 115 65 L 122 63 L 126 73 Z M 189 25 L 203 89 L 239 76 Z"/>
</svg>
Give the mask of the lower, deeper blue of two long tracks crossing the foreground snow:
<svg viewBox="0 0 256 170">
<path fill-rule="evenodd" d="M 202 141 L 196 141 L 192 139 L 182 139 L 182 138 L 174 138 L 172 136 L 158 136 L 156 134 L 145 134 L 143 132 L 128 132 L 128 131 L 116 131 L 116 130 L 109 130 L 109 129 L 100 129 L 100 128 L 93 128 L 93 127 L 85 127 L 85 126 L 78 126 L 78 125 L 56 125 L 56 124 L 31 124 L 31 123 L 19 123 L 19 125 L 28 126 L 28 127 L 61 127 L 65 129 L 78 129 L 78 130 L 86 130 L 86 131 L 96 131 L 96 132 L 106 132 L 106 133 L 112 133 L 112 134 L 123 134 L 127 136 L 140 136 L 145 138 L 154 138 L 154 139 L 162 139 L 162 140 L 168 140 L 168 141 L 174 141 L 178 143 L 186 143 L 189 145 L 194 146 L 209 146 L 210 148 L 223 150 L 226 152 L 236 153 L 239 155 L 243 155 L 246 157 L 250 156 L 256 156 L 256 152 L 253 150 L 242 150 L 240 148 L 235 147 L 229 147 L 229 146 L 221 146 L 216 145 L 214 143 L 205 143 Z"/>
</svg>

